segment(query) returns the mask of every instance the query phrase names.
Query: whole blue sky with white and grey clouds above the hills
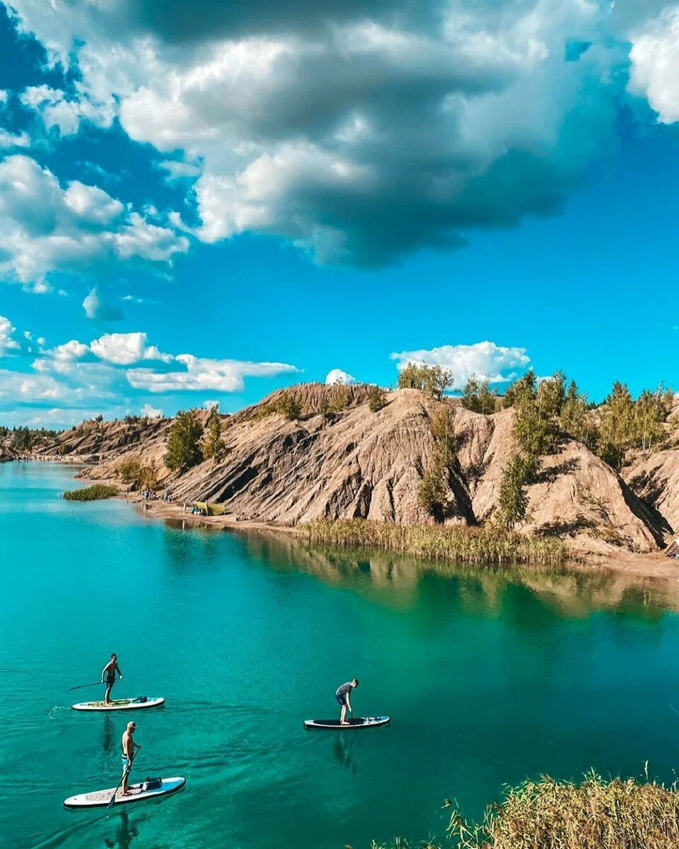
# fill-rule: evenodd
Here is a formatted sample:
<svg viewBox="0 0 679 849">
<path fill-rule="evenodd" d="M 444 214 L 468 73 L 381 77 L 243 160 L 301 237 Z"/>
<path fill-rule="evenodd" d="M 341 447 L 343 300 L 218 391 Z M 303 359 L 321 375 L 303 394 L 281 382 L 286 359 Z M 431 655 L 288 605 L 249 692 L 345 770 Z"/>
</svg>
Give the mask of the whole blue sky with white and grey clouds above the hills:
<svg viewBox="0 0 679 849">
<path fill-rule="evenodd" d="M 679 4 L 0 3 L 0 424 L 679 388 Z"/>
</svg>

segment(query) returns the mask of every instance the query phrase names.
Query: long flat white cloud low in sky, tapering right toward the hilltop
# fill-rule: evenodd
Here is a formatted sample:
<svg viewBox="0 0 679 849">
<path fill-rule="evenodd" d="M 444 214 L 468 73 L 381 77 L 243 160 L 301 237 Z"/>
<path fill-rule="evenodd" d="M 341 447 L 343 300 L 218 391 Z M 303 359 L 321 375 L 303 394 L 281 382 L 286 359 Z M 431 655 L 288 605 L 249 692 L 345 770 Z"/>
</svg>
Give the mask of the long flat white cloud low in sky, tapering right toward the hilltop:
<svg viewBox="0 0 679 849">
<path fill-rule="evenodd" d="M 134 389 L 149 392 L 220 391 L 240 392 L 245 377 L 273 377 L 299 371 L 287 363 L 245 363 L 241 360 L 213 360 L 179 354 L 182 371 L 156 372 L 151 368 L 131 368 L 127 380 Z"/>
</svg>

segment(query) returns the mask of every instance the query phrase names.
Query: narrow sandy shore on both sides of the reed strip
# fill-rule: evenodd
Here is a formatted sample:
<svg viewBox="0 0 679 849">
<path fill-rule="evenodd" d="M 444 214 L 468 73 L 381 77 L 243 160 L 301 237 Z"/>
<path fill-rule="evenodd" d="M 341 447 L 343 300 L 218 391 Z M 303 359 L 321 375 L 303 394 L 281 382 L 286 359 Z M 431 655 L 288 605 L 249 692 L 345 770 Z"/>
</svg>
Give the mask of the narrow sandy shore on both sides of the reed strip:
<svg viewBox="0 0 679 849">
<path fill-rule="evenodd" d="M 111 481 L 115 483 L 115 481 Z M 234 514 L 223 516 L 199 516 L 192 515 L 187 505 L 186 513 L 183 512 L 182 504 L 167 503 L 165 501 L 144 501 L 136 492 L 131 492 L 126 498 L 121 498 L 134 504 L 136 509 L 149 519 L 160 519 L 173 526 L 187 528 L 210 528 L 222 531 L 244 531 L 259 529 L 275 531 L 277 533 L 295 534 L 295 527 L 276 526 L 268 522 L 257 520 L 236 520 Z M 616 571 L 637 579 L 658 579 L 661 581 L 679 583 L 679 560 L 665 557 L 661 551 L 650 554 L 632 554 L 620 551 L 614 554 L 592 554 L 592 552 L 573 552 L 573 559 L 566 563 L 568 568 L 574 571 Z"/>
</svg>

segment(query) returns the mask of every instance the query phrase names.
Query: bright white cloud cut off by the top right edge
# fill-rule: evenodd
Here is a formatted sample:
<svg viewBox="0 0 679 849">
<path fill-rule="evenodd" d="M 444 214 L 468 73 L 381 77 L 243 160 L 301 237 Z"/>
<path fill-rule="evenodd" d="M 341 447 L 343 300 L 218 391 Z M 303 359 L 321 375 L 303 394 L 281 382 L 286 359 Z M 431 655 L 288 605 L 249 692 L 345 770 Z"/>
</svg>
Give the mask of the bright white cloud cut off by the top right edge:
<svg viewBox="0 0 679 849">
<path fill-rule="evenodd" d="M 633 38 L 630 88 L 648 98 L 659 121 L 679 121 L 679 6 L 668 6 Z"/>
</svg>

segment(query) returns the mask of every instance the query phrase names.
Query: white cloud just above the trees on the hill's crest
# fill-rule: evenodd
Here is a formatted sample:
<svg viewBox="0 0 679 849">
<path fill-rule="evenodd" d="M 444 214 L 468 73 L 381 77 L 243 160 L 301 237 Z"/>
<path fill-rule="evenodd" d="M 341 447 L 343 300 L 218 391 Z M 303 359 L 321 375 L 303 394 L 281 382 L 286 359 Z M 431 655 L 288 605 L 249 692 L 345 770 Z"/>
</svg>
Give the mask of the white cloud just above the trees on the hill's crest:
<svg viewBox="0 0 679 849">
<path fill-rule="evenodd" d="M 495 342 L 476 342 L 474 345 L 444 345 L 421 351 L 401 351 L 391 354 L 398 368 L 407 363 L 426 363 L 429 366 L 441 366 L 452 372 L 457 389 L 476 376 L 486 378 L 491 383 L 504 383 L 513 380 L 518 372 L 523 372 L 530 363 L 525 348 L 507 348 Z"/>
</svg>

